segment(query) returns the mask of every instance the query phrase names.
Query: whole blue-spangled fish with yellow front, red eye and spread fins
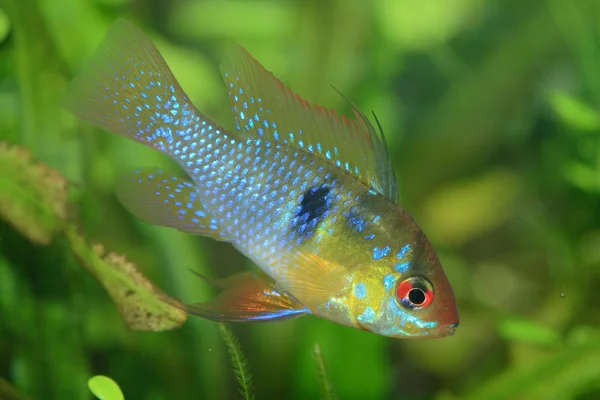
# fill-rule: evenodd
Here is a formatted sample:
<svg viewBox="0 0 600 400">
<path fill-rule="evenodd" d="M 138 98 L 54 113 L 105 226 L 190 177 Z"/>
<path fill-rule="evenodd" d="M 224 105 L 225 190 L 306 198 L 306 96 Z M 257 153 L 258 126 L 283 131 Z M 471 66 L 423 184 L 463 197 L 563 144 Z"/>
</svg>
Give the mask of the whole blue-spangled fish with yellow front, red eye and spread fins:
<svg viewBox="0 0 600 400">
<path fill-rule="evenodd" d="M 62 103 L 181 167 L 179 175 L 126 173 L 115 184 L 125 209 L 230 243 L 258 267 L 202 276 L 218 294 L 185 311 L 221 322 L 312 315 L 390 338 L 454 334 L 452 286 L 399 204 L 377 117 L 375 129 L 345 96 L 352 117 L 309 103 L 241 45 L 231 46 L 220 71 L 233 111 L 229 131 L 192 104 L 152 41 L 121 18 Z"/>
</svg>

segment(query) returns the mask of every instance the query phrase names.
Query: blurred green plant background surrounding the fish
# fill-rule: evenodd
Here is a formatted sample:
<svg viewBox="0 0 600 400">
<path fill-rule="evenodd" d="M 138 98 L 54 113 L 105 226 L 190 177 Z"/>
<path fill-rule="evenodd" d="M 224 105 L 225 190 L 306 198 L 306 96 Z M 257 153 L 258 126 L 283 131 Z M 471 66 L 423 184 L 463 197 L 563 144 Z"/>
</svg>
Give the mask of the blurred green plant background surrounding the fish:
<svg viewBox="0 0 600 400">
<path fill-rule="evenodd" d="M 69 220 L 90 242 L 194 302 L 214 292 L 187 268 L 220 277 L 249 262 L 135 220 L 115 180 L 172 165 L 59 104 L 118 17 L 227 127 L 218 64 L 231 41 L 312 102 L 348 113 L 333 85 L 374 110 L 401 202 L 453 284 L 461 325 L 449 338 L 313 317 L 231 326 L 257 399 L 318 398 L 315 343 L 340 399 L 600 399 L 599 1 L 0 0 L 0 142 L 69 180 Z M 31 215 L 11 214 L 17 199 L 33 197 L 11 186 L 21 170 L 0 157 L 0 376 L 40 400 L 89 399 L 95 374 L 126 399 L 236 398 L 217 324 L 130 330 L 59 231 L 42 244 L 15 229 Z"/>
</svg>

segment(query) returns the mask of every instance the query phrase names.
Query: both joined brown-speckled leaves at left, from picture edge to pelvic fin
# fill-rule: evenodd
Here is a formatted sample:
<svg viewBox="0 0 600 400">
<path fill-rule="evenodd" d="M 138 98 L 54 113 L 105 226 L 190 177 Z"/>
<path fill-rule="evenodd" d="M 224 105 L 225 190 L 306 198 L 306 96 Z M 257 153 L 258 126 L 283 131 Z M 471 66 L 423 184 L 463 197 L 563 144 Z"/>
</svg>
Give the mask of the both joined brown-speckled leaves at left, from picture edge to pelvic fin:
<svg viewBox="0 0 600 400">
<path fill-rule="evenodd" d="M 24 149 L 0 142 L 0 172 L 4 218 L 34 243 L 47 245 L 53 236 L 64 234 L 73 254 L 104 286 L 131 329 L 160 331 L 186 321 L 181 303 L 155 287 L 125 257 L 104 255 L 100 244 L 88 245 L 66 221 L 66 181 L 56 171 L 33 163 Z"/>
</svg>

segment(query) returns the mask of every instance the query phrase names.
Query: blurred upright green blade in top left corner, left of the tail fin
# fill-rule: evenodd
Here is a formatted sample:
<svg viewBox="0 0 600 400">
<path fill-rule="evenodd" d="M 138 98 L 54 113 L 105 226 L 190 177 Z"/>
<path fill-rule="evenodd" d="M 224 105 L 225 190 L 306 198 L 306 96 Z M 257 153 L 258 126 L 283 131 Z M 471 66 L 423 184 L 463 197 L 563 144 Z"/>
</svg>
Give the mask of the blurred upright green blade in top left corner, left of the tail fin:
<svg viewBox="0 0 600 400">
<path fill-rule="evenodd" d="M 6 0 L 2 4 L 12 24 L 20 143 L 63 176 L 79 181 L 83 173 L 79 132 L 69 123 L 72 116 L 60 102 L 67 69 L 42 10 L 37 0 Z"/>
</svg>

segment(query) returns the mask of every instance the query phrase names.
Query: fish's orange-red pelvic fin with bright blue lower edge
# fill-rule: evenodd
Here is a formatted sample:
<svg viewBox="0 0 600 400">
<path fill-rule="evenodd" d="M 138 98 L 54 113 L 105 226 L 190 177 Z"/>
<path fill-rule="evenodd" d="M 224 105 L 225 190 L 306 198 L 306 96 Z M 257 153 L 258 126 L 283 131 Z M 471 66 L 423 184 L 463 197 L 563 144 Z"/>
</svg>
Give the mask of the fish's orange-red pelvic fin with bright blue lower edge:
<svg viewBox="0 0 600 400">
<path fill-rule="evenodd" d="M 277 290 L 272 280 L 244 272 L 225 279 L 199 275 L 221 289 L 205 303 L 185 306 L 192 315 L 220 322 L 269 322 L 297 318 L 309 311 L 286 292 Z"/>
</svg>

